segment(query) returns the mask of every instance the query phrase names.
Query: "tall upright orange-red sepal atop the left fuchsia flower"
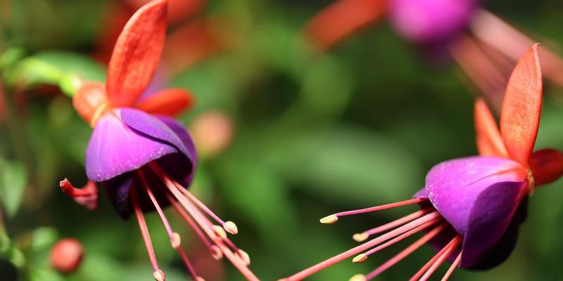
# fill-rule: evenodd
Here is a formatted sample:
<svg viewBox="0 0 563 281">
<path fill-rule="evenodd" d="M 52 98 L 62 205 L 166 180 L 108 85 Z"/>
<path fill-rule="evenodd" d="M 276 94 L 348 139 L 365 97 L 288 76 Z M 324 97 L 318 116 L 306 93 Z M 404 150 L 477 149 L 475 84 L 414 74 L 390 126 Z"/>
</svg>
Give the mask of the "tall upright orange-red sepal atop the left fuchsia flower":
<svg viewBox="0 0 563 281">
<path fill-rule="evenodd" d="M 123 28 L 108 66 L 106 91 L 112 107 L 131 106 L 151 82 L 166 36 L 167 1 L 142 6 Z"/>
</svg>

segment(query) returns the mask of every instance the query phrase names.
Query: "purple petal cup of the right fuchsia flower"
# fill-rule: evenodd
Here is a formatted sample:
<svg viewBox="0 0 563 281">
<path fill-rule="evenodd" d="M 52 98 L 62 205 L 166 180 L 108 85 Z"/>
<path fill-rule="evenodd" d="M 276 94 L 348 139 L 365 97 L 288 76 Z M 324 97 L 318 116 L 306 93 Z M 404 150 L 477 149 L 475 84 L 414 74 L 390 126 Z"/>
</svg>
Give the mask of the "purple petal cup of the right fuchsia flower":
<svg viewBox="0 0 563 281">
<path fill-rule="evenodd" d="M 464 237 L 462 267 L 481 262 L 502 240 L 525 187 L 524 168 L 510 159 L 467 157 L 431 169 L 424 189 L 434 208 Z"/>
</svg>

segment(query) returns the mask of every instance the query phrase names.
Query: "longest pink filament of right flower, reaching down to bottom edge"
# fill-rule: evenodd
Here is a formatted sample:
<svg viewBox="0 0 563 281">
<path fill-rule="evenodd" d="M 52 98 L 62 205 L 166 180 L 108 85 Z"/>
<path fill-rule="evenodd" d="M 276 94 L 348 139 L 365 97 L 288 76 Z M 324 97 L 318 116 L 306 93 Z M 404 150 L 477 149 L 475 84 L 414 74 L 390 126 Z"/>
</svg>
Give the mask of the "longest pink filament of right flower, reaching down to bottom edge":
<svg viewBox="0 0 563 281">
<path fill-rule="evenodd" d="M 412 201 L 412 200 L 407 200 L 407 201 Z M 424 223 L 427 223 L 428 221 L 434 220 L 434 218 L 439 218 L 439 217 L 441 217 L 441 215 L 438 213 L 438 211 L 433 211 L 430 214 L 426 214 L 422 216 L 421 218 L 417 218 L 415 221 L 411 221 L 410 223 L 405 224 L 404 226 L 400 226 L 399 228 L 396 228 L 395 230 L 391 230 L 390 232 L 385 233 L 384 235 L 369 240 L 369 242 L 365 242 L 364 244 L 354 247 L 353 249 L 349 249 L 348 251 L 345 251 L 342 254 L 338 254 L 336 256 L 331 257 L 330 259 L 317 263 L 315 266 L 311 266 L 310 268 L 301 270 L 300 272 L 291 275 L 290 277 L 287 277 L 286 280 L 289 281 L 303 280 L 305 277 L 313 275 L 319 272 L 320 270 L 323 270 L 324 268 L 332 266 L 334 263 L 338 263 L 340 261 L 343 261 L 344 259 L 350 258 L 351 256 L 360 254 L 362 251 L 372 248 L 381 242 L 384 242 L 393 237 L 401 235 L 407 232 L 408 230 L 411 230 L 412 228 L 416 228 L 417 226 L 420 226 Z"/>
</svg>

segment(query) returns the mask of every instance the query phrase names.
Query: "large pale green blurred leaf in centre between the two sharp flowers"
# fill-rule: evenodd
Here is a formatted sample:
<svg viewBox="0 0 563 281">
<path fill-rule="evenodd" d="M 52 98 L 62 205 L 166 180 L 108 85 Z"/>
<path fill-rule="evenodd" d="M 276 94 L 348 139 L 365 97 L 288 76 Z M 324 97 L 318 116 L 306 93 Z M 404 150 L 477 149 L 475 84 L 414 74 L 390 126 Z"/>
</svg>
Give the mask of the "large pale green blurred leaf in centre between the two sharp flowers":
<svg viewBox="0 0 563 281">
<path fill-rule="evenodd" d="M 288 176 L 336 202 L 356 207 L 391 202 L 412 196 L 424 185 L 422 167 L 405 149 L 357 128 L 303 133 L 279 148 L 286 154 L 292 151 L 293 161 L 284 166 Z M 415 182 L 419 185 L 412 186 Z"/>
</svg>

